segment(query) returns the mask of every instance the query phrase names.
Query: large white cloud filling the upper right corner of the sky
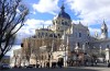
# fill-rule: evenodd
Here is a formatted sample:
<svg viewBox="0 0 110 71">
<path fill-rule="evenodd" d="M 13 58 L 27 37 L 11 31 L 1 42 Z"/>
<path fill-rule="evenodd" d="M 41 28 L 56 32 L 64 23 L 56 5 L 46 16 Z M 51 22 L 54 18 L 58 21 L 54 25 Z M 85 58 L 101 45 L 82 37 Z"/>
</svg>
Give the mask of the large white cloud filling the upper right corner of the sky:
<svg viewBox="0 0 110 71">
<path fill-rule="evenodd" d="M 76 15 L 80 13 L 78 17 L 84 23 L 95 25 L 103 19 L 110 21 L 110 0 L 66 0 L 66 3 Z"/>
</svg>

